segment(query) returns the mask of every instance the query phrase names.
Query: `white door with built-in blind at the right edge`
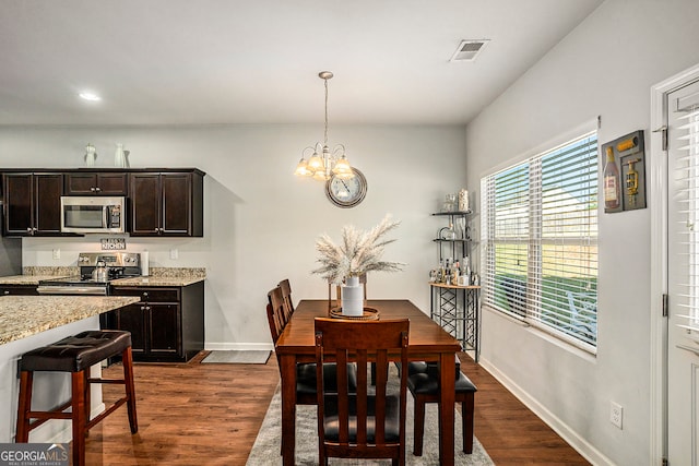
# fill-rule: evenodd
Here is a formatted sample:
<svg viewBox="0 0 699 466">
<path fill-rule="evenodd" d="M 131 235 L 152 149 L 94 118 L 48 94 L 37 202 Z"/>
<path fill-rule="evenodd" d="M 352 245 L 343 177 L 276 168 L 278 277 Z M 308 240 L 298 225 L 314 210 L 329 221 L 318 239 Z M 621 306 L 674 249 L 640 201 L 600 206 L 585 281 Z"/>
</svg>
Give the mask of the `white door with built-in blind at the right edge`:
<svg viewBox="0 0 699 466">
<path fill-rule="evenodd" d="M 699 82 L 667 94 L 667 459 L 699 465 Z"/>
</svg>

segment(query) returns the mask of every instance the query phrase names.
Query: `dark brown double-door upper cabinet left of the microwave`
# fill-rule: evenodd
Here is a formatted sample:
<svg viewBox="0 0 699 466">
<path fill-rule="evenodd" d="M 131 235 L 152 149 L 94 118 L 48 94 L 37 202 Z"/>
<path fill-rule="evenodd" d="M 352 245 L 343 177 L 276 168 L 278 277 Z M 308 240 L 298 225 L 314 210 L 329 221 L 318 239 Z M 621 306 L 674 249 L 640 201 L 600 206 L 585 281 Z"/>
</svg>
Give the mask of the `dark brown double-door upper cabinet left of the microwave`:
<svg viewBox="0 0 699 466">
<path fill-rule="evenodd" d="M 2 232 L 5 236 L 62 236 L 62 174 L 4 174 Z"/>
</svg>

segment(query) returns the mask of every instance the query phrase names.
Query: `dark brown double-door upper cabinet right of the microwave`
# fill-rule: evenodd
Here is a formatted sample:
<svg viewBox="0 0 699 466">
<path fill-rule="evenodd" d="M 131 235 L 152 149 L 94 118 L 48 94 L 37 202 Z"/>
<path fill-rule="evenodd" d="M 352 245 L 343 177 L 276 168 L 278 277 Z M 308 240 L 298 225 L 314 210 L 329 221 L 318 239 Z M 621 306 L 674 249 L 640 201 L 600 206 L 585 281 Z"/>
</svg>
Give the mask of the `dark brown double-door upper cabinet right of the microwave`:
<svg viewBox="0 0 699 466">
<path fill-rule="evenodd" d="M 132 172 L 131 236 L 202 237 L 203 172 Z"/>
</svg>

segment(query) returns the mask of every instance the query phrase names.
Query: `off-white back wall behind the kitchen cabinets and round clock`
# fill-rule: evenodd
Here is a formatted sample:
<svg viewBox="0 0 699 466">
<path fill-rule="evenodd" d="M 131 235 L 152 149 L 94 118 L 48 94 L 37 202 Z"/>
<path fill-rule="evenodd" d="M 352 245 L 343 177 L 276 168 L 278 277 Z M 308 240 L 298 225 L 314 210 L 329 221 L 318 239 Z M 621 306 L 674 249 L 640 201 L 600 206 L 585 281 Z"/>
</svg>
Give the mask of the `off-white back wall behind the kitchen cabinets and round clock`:
<svg viewBox="0 0 699 466">
<path fill-rule="evenodd" d="M 295 300 L 324 298 L 311 275 L 315 240 L 339 239 L 345 224 L 370 228 L 387 214 L 402 222 L 384 259 L 406 262 L 403 272 L 368 277 L 369 298 L 408 298 L 429 312 L 431 242 L 443 226 L 430 213 L 465 181 L 463 127 L 332 127 L 330 142 L 347 147 L 368 181 L 355 208 L 332 205 L 324 183 L 293 176 L 301 150 L 322 138 L 322 126 L 204 128 L 0 128 L 0 167 L 79 167 L 86 143 L 97 167 L 114 163 L 115 143 L 131 152 L 132 167 L 197 167 L 204 178 L 204 238 L 128 238 L 128 250 L 150 251 L 152 266 L 204 266 L 206 347 L 270 346 L 266 292 L 282 278 Z M 24 239 L 24 265 L 75 265 L 78 252 L 98 250 L 99 239 Z M 54 260 L 52 249 L 61 249 Z M 178 260 L 169 259 L 177 248 Z"/>
</svg>

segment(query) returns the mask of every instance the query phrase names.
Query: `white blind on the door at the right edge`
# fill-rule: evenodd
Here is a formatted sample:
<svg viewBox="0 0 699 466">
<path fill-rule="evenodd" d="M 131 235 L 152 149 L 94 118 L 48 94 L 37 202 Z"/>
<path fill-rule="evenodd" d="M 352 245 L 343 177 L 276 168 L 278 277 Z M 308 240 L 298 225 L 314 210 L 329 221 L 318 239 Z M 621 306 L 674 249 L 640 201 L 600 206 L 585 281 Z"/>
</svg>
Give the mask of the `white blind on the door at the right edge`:
<svg viewBox="0 0 699 466">
<path fill-rule="evenodd" d="M 684 225 L 677 228 L 679 238 L 676 246 L 686 279 L 678 284 L 683 290 L 678 304 L 686 309 L 688 325 L 699 328 L 699 108 L 691 108 L 682 120 L 684 124 L 678 128 L 682 156 L 677 159 L 675 178 L 678 182 L 679 217 L 684 218 Z"/>
</svg>

